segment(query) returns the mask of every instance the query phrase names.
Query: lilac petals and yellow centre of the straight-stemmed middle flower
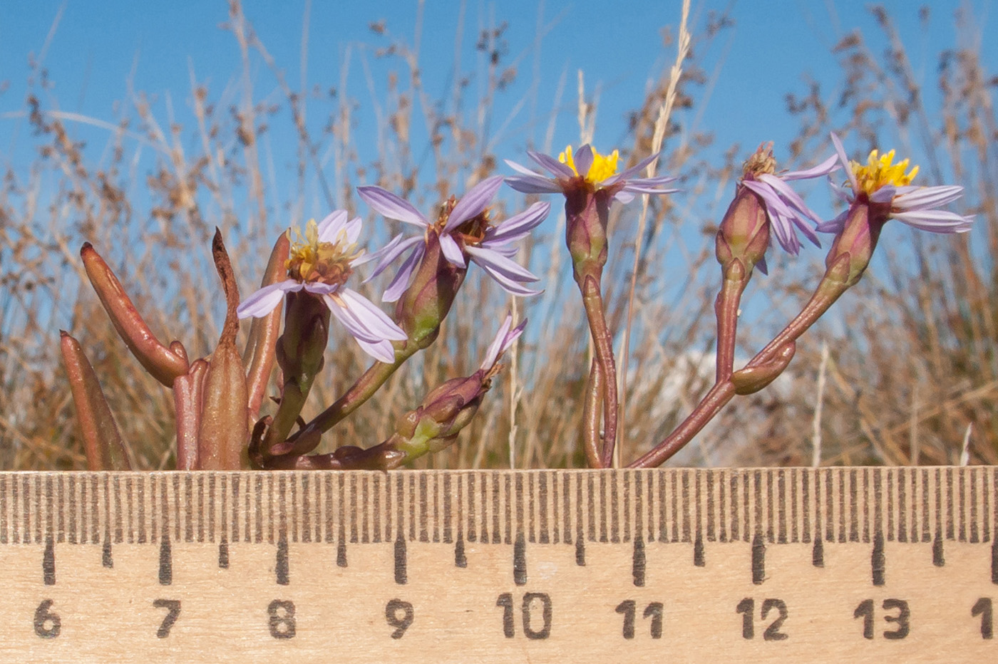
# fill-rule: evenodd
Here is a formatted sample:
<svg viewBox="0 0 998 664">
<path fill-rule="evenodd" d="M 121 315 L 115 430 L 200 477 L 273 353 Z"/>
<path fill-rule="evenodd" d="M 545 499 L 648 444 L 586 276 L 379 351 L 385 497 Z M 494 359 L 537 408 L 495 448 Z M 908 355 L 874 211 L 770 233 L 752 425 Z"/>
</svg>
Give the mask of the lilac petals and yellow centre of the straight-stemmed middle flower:
<svg viewBox="0 0 998 664">
<path fill-rule="evenodd" d="M 664 184 L 674 181 L 675 177 L 667 175 L 633 177 L 651 164 L 658 155 L 652 155 L 622 172 L 617 172 L 620 159 L 618 151 L 615 150 L 610 155 L 600 155 L 589 144 L 580 148 L 574 155 L 572 147 L 569 146 L 557 160 L 529 150 L 527 156 L 552 176 L 506 160 L 509 167 L 520 173 L 507 177 L 506 183 L 523 193 L 564 193 L 571 189 L 574 186 L 573 182 L 579 178 L 593 189 L 610 189 L 614 197 L 622 203 L 630 202 L 635 193 L 673 193 L 679 190 L 662 188 Z"/>
</svg>

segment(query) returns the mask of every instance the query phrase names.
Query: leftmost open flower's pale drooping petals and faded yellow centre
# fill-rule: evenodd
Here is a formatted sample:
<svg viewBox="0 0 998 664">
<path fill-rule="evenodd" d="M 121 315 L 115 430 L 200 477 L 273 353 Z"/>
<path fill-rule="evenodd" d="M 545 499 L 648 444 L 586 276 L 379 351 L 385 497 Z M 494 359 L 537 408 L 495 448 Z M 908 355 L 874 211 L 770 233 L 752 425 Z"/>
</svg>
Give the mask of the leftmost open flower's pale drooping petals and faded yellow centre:
<svg viewBox="0 0 998 664">
<path fill-rule="evenodd" d="M 240 304 L 239 317 L 265 316 L 285 293 L 304 290 L 329 307 L 365 353 L 386 364 L 394 362 L 391 342 L 404 341 L 405 332 L 370 300 L 343 285 L 353 266 L 363 262 L 363 251 L 356 248 L 360 223 L 359 217 L 347 221 L 345 210 L 332 212 L 318 224 L 310 219 L 304 237 L 291 246 L 288 278 L 252 293 Z"/>
</svg>

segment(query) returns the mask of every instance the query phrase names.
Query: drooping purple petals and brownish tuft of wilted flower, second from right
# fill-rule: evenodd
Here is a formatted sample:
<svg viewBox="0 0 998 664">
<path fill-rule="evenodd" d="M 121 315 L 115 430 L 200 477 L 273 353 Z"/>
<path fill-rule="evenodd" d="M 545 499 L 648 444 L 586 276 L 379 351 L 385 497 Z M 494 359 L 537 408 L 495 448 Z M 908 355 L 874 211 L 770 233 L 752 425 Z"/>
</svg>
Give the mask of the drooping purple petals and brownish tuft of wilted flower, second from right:
<svg viewBox="0 0 998 664">
<path fill-rule="evenodd" d="M 742 183 L 762 199 L 769 216 L 769 227 L 779 246 L 795 256 L 800 252 L 800 240 L 794 228 L 803 233 L 814 246 L 821 246 L 812 228 L 812 224 L 821 223 L 821 217 L 786 182 L 827 175 L 839 168 L 838 158 L 832 155 L 817 166 L 781 173 L 775 172 L 775 164 L 771 144 L 768 148 L 759 146 L 745 164 Z M 765 274 L 764 259 L 760 260 L 758 267 Z"/>
</svg>

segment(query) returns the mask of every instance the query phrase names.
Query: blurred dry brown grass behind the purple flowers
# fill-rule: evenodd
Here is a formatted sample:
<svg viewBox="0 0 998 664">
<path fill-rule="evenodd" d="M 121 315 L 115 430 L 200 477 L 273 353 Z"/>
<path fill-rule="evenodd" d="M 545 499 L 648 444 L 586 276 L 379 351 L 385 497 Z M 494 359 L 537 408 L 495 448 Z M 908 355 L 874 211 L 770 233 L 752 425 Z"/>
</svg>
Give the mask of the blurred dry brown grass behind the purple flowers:
<svg viewBox="0 0 998 664">
<path fill-rule="evenodd" d="M 733 404 L 677 463 L 949 464 L 959 461 L 965 443 L 971 463 L 998 463 L 993 259 L 998 255 L 998 79 L 980 61 L 972 39 L 974 17 L 959 15 L 956 27 L 965 39 L 960 48 L 936 55 L 938 90 L 932 92 L 942 102 L 926 108 L 928 91 L 915 80 L 890 17 L 872 11 L 879 34 L 852 33 L 836 46 L 842 83 L 834 95 L 817 84 L 788 95 L 799 136 L 791 146 L 793 163 L 781 166 L 827 155 L 824 137 L 830 129 L 848 131 L 852 145 L 863 149 L 889 137 L 898 141 L 899 152 L 910 148 L 928 156 L 922 182 L 955 181 L 967 188 L 965 209 L 978 214 L 977 227 L 965 236 L 941 238 L 893 229 L 893 237 L 903 239 L 882 243 L 874 266 L 835 305 L 833 321 L 804 337 L 784 377 Z M 143 374 L 117 338 L 82 272 L 83 241 L 108 258 L 162 339 L 181 339 L 192 356 L 201 356 L 218 339 L 222 320 L 209 248 L 215 225 L 226 235 L 246 294 L 284 227 L 320 217 L 334 202 L 363 213 L 354 184 L 378 183 L 430 209 L 484 175 L 506 172 L 502 158 L 522 161 L 494 152 L 503 124 L 492 117 L 494 101 L 513 77 L 523 75 L 523 63 L 505 51 L 503 33 L 510 28 L 497 25 L 475 36 L 482 57 L 466 71 L 454 63 L 461 75 L 442 99 L 431 98 L 422 86 L 418 46 L 392 39 L 389 28 L 371 26 L 371 48 L 346 60 L 335 91 L 300 91 L 284 79 L 233 0 L 228 29 L 242 54 L 241 83 L 212 89 L 192 77 L 193 112 L 185 117 L 175 115 L 169 99 L 141 93 L 132 94 L 115 118 L 73 116 L 60 110 L 45 72 L 32 73 L 24 117 L 38 157 L 27 170 L 5 172 L 0 183 L 0 469 L 85 467 L 59 357 L 60 327 L 87 349 L 136 467 L 172 468 L 172 395 Z M 618 207 L 612 219 L 613 278 L 605 283 L 613 284 L 606 299 L 619 334 L 626 325 L 633 266 L 638 267 L 625 462 L 664 437 L 713 377 L 710 361 L 703 359 L 713 356 L 719 278 L 713 223 L 727 207 L 741 161 L 753 146 L 733 147 L 719 162 L 708 155 L 723 148 L 713 146 L 711 136 L 690 135 L 680 127 L 699 112 L 709 79 L 698 54 L 725 28 L 725 17 L 715 17 L 693 35 L 665 132 L 659 170 L 682 173 L 687 193 L 653 199 L 641 225 L 640 201 Z M 675 45 L 666 41 L 674 53 Z M 887 57 L 871 42 L 886 43 Z M 390 61 L 386 80 L 374 80 L 373 59 Z M 251 72 L 260 66 L 269 69 L 273 88 L 253 87 Z M 365 72 L 364 93 L 346 89 L 351 67 Z M 467 85 L 471 79 L 483 85 Z M 669 84 L 670 72 L 664 71 L 647 97 L 636 100 L 621 146 L 631 163 L 653 145 Z M 554 91 L 553 106 L 575 104 L 573 87 L 566 83 Z M 581 75 L 578 87 L 585 138 L 599 100 L 585 91 Z M 361 115 L 379 128 L 372 161 L 362 160 L 364 151 L 354 143 Z M 848 120 L 833 127 L 832 117 Z M 93 145 L 84 150 L 81 127 L 103 131 L 103 150 Z M 269 151 L 269 137 L 278 132 L 297 142 L 294 181 L 282 188 L 274 183 Z M 546 139 L 531 147 L 557 152 L 561 146 L 551 145 L 553 133 L 552 119 Z M 138 167 L 139 154 L 150 152 L 155 168 Z M 508 197 L 500 206 L 509 213 L 524 203 L 509 191 L 503 195 Z M 522 256 L 542 275 L 546 292 L 515 305 L 531 325 L 512 366 L 460 443 L 421 460 L 421 466 L 506 468 L 511 460 L 517 468 L 584 464 L 579 423 L 588 373 L 586 326 L 567 278 L 563 223 L 552 213 Z M 819 253 L 802 262 L 816 263 Z M 795 313 L 816 274 L 783 261 L 774 267 L 767 280 L 749 286 L 747 307 L 765 312 L 765 320 L 743 326 L 741 356 L 750 356 L 768 339 L 766 333 Z M 477 366 L 510 306 L 502 291 L 480 277 L 470 271 L 436 344 L 327 434 L 323 449 L 380 442 L 393 418 L 417 404 L 429 387 Z M 373 296 L 385 282 L 368 285 L 364 289 Z M 334 330 L 326 366 L 335 369 L 316 383 L 306 415 L 349 385 L 365 358 Z"/>
</svg>

